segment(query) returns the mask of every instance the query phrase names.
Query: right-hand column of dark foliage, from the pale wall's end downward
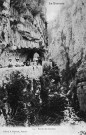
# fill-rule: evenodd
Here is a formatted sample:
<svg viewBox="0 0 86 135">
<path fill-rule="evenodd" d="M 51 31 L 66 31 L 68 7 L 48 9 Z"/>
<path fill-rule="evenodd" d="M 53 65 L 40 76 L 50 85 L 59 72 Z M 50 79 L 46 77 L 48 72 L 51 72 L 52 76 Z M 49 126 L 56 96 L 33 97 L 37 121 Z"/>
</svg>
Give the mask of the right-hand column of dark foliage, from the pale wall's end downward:
<svg viewBox="0 0 86 135">
<path fill-rule="evenodd" d="M 44 70 L 44 74 L 41 77 L 41 99 L 42 109 L 41 115 L 43 120 L 49 123 L 59 123 L 63 118 L 63 111 L 66 106 L 66 98 L 61 96 L 59 91 L 59 69 L 54 65 L 53 68 L 48 67 Z M 48 119 L 48 120 L 47 120 Z"/>
</svg>

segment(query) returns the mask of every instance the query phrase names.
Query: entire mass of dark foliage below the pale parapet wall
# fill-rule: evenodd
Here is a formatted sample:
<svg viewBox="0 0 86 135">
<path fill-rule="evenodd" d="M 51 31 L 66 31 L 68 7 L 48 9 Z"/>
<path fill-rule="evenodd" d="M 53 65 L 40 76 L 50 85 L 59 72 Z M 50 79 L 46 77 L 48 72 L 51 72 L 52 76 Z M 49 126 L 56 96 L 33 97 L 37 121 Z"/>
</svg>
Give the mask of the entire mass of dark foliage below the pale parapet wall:
<svg viewBox="0 0 86 135">
<path fill-rule="evenodd" d="M 7 124 L 24 126 L 27 121 L 29 126 L 60 122 L 66 100 L 58 92 L 59 81 L 57 66 L 46 70 L 39 80 L 33 80 L 33 90 L 29 78 L 25 78 L 18 71 L 13 72 L 9 82 L 1 88 L 4 93 L 0 90 L 8 106 L 4 114 Z"/>
</svg>

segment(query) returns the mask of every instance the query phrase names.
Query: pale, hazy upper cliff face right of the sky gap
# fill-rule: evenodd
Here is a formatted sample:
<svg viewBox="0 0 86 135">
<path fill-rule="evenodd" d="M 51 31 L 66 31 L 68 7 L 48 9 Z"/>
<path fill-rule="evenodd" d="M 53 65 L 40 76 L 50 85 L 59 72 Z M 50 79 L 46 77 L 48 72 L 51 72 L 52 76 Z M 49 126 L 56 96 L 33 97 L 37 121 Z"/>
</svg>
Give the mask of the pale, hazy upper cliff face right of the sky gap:
<svg viewBox="0 0 86 135">
<path fill-rule="evenodd" d="M 78 0 L 60 11 L 58 20 L 51 29 L 53 37 L 49 52 L 60 69 L 65 69 L 66 53 L 70 66 L 86 54 L 86 1 Z"/>
</svg>

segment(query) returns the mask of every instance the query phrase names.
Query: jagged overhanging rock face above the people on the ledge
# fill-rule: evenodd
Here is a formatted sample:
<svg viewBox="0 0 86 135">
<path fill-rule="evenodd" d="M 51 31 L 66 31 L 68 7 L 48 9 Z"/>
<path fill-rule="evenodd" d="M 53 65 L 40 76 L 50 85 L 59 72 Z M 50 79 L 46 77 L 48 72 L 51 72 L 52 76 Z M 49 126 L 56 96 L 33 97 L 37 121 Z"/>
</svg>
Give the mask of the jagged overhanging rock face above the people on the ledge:
<svg viewBox="0 0 86 135">
<path fill-rule="evenodd" d="M 27 59 L 26 54 L 21 55 L 17 50 L 39 51 L 46 48 L 46 20 L 41 6 L 38 0 L 0 1 L 0 65 L 2 67 L 8 65 L 9 58 L 13 59 L 13 63 L 16 57 L 19 57 L 20 61 L 23 59 L 23 62 Z"/>
</svg>

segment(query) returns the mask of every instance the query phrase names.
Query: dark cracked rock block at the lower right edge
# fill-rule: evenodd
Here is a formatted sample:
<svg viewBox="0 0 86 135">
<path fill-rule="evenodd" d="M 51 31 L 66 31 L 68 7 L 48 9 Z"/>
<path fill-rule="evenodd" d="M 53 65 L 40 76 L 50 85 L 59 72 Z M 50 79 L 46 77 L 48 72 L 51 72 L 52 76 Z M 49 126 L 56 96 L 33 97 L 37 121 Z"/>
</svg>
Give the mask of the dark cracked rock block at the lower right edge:
<svg viewBox="0 0 86 135">
<path fill-rule="evenodd" d="M 83 62 L 77 71 L 77 96 L 80 110 L 86 112 L 86 62 Z"/>
</svg>

